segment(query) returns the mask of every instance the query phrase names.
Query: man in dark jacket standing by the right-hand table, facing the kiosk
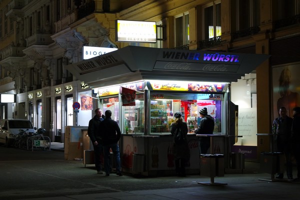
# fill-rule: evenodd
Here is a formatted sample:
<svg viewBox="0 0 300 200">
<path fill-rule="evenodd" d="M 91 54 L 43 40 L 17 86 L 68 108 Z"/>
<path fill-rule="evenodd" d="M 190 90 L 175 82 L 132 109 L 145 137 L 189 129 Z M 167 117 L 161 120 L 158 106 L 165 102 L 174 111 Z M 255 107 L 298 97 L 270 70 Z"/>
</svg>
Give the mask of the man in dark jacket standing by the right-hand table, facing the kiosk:
<svg viewBox="0 0 300 200">
<path fill-rule="evenodd" d="M 286 160 L 286 175 L 292 179 L 291 162 L 291 124 L 292 118 L 286 115 L 286 108 L 279 108 L 279 117 L 273 121 L 273 131 L 275 133 L 276 151 L 283 152 Z M 283 173 L 278 173 L 276 178 L 283 178 Z"/>
</svg>

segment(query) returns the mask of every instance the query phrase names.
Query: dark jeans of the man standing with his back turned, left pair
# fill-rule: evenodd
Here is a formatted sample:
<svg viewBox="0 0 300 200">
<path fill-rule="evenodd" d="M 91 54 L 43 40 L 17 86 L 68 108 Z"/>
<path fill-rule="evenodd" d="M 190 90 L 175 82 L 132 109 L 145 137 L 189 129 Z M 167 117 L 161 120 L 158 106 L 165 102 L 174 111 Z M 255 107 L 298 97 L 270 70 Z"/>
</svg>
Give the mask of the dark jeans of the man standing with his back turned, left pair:
<svg viewBox="0 0 300 200">
<path fill-rule="evenodd" d="M 109 150 L 110 150 L 110 148 L 111 148 L 111 150 L 112 150 L 112 152 L 115 156 L 116 172 L 119 173 L 119 172 L 121 172 L 121 160 L 120 160 L 120 150 L 119 150 L 119 147 L 118 147 L 117 143 L 103 145 L 105 173 L 109 174 L 109 172 L 110 172 L 110 164 L 109 164 L 109 155 L 110 155 Z"/>
</svg>

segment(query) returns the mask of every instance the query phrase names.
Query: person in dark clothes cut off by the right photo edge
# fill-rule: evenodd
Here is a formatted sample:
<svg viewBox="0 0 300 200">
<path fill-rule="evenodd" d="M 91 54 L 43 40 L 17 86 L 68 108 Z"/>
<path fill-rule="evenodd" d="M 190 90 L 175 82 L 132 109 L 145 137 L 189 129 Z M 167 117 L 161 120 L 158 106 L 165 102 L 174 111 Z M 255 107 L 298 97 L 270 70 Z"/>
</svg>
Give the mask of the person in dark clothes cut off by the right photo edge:
<svg viewBox="0 0 300 200">
<path fill-rule="evenodd" d="M 296 160 L 297 177 L 295 180 L 300 180 L 300 107 L 294 107 L 293 119 L 291 124 L 292 149 Z"/>
</svg>

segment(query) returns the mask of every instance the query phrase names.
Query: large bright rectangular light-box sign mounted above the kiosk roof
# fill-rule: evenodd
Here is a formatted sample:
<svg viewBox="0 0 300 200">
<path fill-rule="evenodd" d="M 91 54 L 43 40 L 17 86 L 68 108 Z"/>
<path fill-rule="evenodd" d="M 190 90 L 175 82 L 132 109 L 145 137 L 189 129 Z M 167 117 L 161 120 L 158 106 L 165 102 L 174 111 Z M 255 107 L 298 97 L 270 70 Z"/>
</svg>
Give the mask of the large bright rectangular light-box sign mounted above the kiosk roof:
<svg viewBox="0 0 300 200">
<path fill-rule="evenodd" d="M 129 42 L 156 42 L 155 21 L 115 20 L 115 40 Z"/>
</svg>

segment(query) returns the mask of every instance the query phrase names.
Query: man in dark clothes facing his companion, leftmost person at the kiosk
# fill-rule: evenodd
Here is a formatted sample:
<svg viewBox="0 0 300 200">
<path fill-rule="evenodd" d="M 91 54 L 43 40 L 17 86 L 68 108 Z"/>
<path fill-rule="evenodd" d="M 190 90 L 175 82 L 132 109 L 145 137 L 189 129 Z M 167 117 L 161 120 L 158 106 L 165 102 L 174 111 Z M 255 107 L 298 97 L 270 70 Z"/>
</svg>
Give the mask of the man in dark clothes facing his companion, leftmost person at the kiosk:
<svg viewBox="0 0 300 200">
<path fill-rule="evenodd" d="M 92 119 L 89 120 L 87 129 L 87 134 L 92 142 L 94 149 L 95 167 L 98 174 L 103 174 L 101 170 L 101 155 L 103 155 L 103 148 L 99 124 L 104 118 L 105 116 L 102 115 L 102 110 L 100 108 L 96 108 L 95 115 Z"/>
</svg>

